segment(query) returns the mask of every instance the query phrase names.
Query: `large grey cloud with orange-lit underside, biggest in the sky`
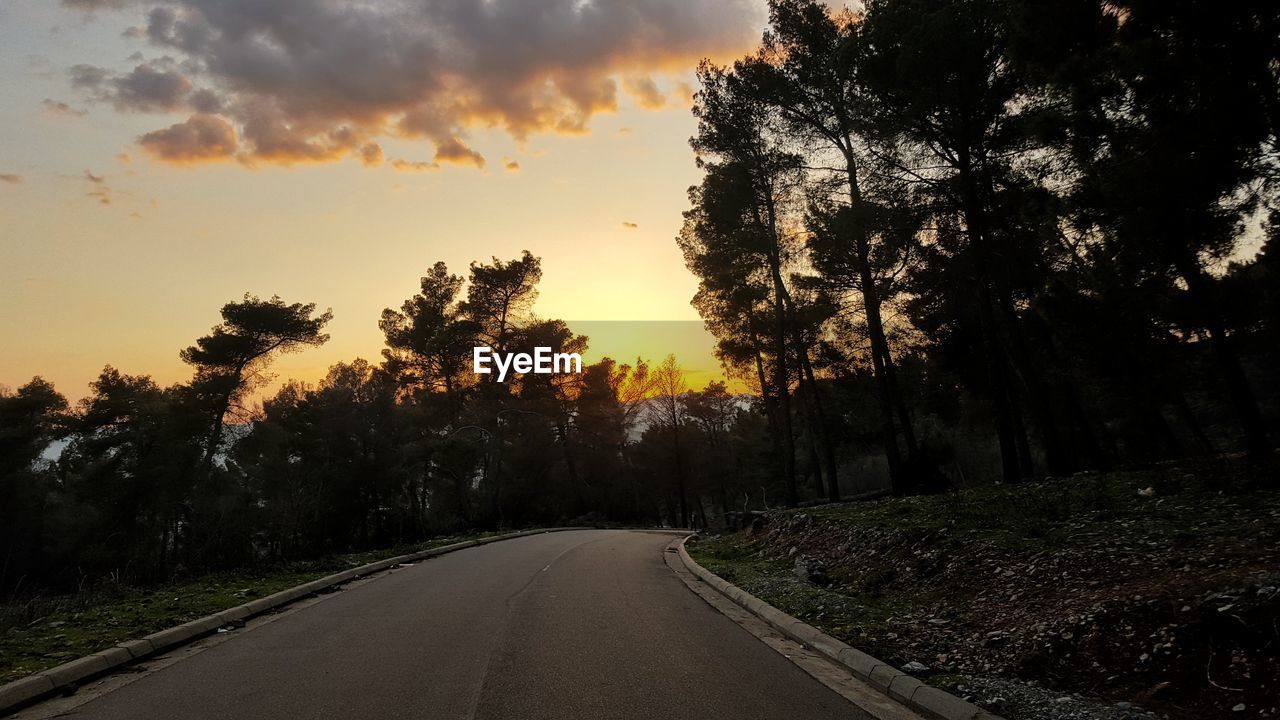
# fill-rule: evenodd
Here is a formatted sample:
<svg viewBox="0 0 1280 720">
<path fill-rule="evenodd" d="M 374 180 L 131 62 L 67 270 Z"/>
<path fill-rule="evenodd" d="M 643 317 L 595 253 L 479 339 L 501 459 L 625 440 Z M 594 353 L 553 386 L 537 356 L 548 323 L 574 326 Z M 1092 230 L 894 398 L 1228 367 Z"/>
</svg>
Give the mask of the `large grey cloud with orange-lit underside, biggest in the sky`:
<svg viewBox="0 0 1280 720">
<path fill-rule="evenodd" d="M 79 8 L 108 0 L 64 0 Z M 134 0 L 137 29 L 172 60 L 72 82 L 122 111 L 218 115 L 250 163 L 355 156 L 380 137 L 428 141 L 435 161 L 483 167 L 466 141 L 495 128 L 582 133 L 621 91 L 667 105 L 654 77 L 758 40 L 756 0 Z M 198 86 L 198 88 L 197 88 Z"/>
</svg>

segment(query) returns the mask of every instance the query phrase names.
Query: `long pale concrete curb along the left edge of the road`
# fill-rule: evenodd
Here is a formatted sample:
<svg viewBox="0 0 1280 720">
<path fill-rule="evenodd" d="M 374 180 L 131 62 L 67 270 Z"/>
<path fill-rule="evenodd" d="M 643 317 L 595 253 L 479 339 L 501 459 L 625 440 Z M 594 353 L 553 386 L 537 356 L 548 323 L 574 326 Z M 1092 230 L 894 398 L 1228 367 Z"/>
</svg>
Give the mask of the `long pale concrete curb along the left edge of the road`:
<svg viewBox="0 0 1280 720">
<path fill-rule="evenodd" d="M 480 538 L 474 541 L 456 542 L 453 544 L 445 544 L 440 547 L 433 547 L 430 550 L 422 550 L 419 552 L 411 552 L 408 555 L 399 555 L 397 557 L 388 557 L 385 560 L 379 560 L 376 562 L 370 562 L 367 565 L 361 565 L 358 568 L 352 568 L 349 570 L 343 570 L 340 573 L 334 573 L 333 575 L 326 575 L 324 578 L 311 580 L 297 587 L 292 587 L 280 591 L 275 594 L 269 594 L 266 597 L 260 597 L 255 601 L 246 602 L 243 605 L 237 605 L 236 607 L 229 607 L 221 612 L 215 612 L 212 615 L 206 615 L 197 620 L 184 623 L 177 628 L 169 628 L 166 630 L 160 630 L 159 633 L 151 633 L 140 639 L 125 641 L 115 647 L 110 647 L 101 652 L 95 652 L 93 655 L 87 655 L 79 660 L 72 660 L 70 662 L 64 662 L 49 670 L 42 670 L 35 675 L 28 675 L 26 678 L 14 680 L 12 683 L 0 685 L 0 715 L 8 715 L 9 712 L 18 710 L 22 706 L 29 705 L 45 696 L 56 693 L 59 691 L 73 689 L 76 685 L 104 675 L 110 670 L 120 667 L 122 665 L 128 665 L 143 657 L 150 657 L 152 655 L 159 655 L 166 650 L 172 650 L 180 644 L 188 643 L 204 635 L 211 634 L 218 628 L 228 625 L 236 620 L 244 620 L 246 618 L 252 618 L 255 615 L 261 615 L 268 610 L 274 610 L 282 607 L 319 591 L 332 588 L 334 585 L 340 585 L 356 578 L 364 575 L 371 575 L 374 573 L 380 573 L 394 565 L 402 562 L 413 562 L 416 560 L 425 560 L 428 557 L 435 557 L 438 555 L 445 555 L 458 550 L 466 550 L 468 547 L 476 547 L 481 544 L 489 544 L 492 542 L 499 542 L 504 539 L 522 538 L 526 536 L 538 536 L 543 533 L 559 533 L 564 530 L 591 530 L 591 527 L 580 528 L 544 528 L 538 530 L 521 530 L 517 533 L 507 533 L 503 536 L 493 536 L 488 538 Z M 684 533 L 687 533 L 685 530 Z"/>
</svg>

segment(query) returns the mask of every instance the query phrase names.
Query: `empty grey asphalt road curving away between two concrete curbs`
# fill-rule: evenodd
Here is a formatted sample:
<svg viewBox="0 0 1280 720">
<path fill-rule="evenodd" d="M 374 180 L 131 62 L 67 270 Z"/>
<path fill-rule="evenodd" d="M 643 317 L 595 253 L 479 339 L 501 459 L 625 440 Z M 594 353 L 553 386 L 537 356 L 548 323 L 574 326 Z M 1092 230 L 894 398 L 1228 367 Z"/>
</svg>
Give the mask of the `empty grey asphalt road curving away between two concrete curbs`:
<svg viewBox="0 0 1280 720">
<path fill-rule="evenodd" d="M 70 717 L 867 719 L 671 571 L 671 536 L 468 548 L 328 596 Z"/>
</svg>

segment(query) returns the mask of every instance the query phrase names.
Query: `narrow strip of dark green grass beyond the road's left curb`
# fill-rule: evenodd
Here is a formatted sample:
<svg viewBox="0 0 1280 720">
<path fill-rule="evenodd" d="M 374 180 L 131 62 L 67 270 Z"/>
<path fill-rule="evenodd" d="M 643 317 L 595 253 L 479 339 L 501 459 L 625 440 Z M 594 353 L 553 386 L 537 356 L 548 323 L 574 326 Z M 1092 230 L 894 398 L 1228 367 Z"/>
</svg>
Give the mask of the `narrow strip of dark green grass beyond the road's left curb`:
<svg viewBox="0 0 1280 720">
<path fill-rule="evenodd" d="M 0 606 L 0 683 L 140 638 L 333 573 L 494 533 L 323 560 L 209 573 L 154 587 L 102 585 Z"/>
</svg>

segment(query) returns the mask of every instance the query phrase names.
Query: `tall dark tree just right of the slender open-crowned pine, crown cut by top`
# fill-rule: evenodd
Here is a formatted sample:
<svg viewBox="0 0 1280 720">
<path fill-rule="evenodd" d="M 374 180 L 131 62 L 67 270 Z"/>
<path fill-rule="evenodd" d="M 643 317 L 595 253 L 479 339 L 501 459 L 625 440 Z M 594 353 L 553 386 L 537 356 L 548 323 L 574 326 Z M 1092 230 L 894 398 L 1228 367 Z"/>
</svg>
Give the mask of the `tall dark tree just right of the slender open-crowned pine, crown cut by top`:
<svg viewBox="0 0 1280 720">
<path fill-rule="evenodd" d="M 988 373 L 988 397 L 1006 482 L 1033 471 L 1015 373 L 1012 270 L 1018 238 L 997 222 L 1012 161 L 1033 149 L 1020 119 L 1025 86 L 1007 58 L 1001 0 L 872 0 L 859 78 L 868 132 L 882 159 L 919 178 L 957 217 Z"/>
</svg>

